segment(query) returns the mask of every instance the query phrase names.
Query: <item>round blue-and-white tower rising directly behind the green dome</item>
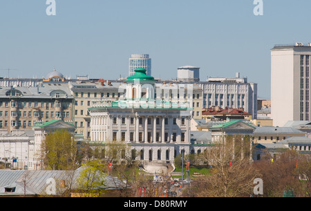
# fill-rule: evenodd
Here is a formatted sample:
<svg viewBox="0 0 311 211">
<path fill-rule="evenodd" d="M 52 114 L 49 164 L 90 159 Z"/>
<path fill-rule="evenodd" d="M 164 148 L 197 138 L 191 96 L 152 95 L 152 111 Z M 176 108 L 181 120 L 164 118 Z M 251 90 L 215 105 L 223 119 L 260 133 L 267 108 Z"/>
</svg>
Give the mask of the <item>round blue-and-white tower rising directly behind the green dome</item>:
<svg viewBox="0 0 311 211">
<path fill-rule="evenodd" d="M 129 58 L 129 76 L 135 74 L 135 69 L 144 68 L 147 75 L 151 76 L 151 58 L 149 54 L 131 54 Z"/>
</svg>

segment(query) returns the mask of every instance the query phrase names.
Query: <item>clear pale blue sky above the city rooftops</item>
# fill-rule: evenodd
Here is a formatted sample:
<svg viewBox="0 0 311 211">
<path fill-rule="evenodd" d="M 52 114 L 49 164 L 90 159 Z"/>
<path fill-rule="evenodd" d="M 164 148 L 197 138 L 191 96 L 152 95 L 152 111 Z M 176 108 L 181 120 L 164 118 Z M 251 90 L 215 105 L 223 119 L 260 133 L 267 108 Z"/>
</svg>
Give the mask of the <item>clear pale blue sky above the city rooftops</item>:
<svg viewBox="0 0 311 211">
<path fill-rule="evenodd" d="M 153 77 L 173 79 L 179 66 L 200 67 L 200 79 L 234 77 L 258 83 L 270 99 L 270 49 L 311 42 L 310 0 L 0 0 L 0 69 L 10 77 L 128 76 L 132 53 L 148 53 Z M 1 77 L 8 71 L 0 70 Z"/>
</svg>

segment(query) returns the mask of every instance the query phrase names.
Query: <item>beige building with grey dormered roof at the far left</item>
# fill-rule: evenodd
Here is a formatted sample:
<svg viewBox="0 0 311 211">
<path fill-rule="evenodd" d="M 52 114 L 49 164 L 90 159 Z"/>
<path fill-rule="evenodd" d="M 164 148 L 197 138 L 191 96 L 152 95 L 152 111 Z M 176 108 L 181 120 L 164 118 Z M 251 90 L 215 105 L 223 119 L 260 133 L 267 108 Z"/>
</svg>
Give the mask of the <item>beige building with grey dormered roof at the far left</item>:
<svg viewBox="0 0 311 211">
<path fill-rule="evenodd" d="M 0 89 L 0 128 L 31 130 L 37 122 L 73 121 L 73 96 L 67 83 Z"/>
</svg>

